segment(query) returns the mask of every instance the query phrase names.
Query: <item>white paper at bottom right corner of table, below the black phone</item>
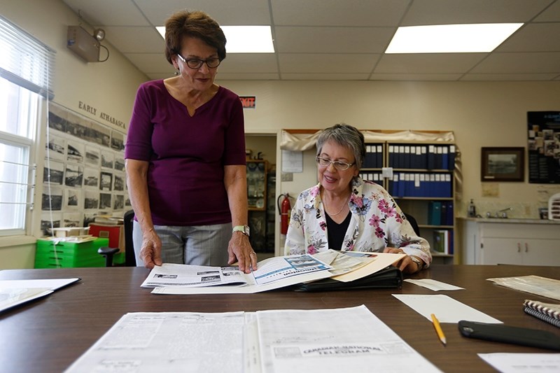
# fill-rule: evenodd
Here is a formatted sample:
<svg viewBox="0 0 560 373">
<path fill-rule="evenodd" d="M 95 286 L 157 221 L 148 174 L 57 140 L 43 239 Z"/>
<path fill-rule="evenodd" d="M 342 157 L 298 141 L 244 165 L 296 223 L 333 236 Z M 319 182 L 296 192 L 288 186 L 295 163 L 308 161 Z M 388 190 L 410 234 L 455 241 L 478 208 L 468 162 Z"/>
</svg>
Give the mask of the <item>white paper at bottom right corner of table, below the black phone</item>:
<svg viewBox="0 0 560 373">
<path fill-rule="evenodd" d="M 558 373 L 560 353 L 479 353 L 501 373 Z"/>
</svg>

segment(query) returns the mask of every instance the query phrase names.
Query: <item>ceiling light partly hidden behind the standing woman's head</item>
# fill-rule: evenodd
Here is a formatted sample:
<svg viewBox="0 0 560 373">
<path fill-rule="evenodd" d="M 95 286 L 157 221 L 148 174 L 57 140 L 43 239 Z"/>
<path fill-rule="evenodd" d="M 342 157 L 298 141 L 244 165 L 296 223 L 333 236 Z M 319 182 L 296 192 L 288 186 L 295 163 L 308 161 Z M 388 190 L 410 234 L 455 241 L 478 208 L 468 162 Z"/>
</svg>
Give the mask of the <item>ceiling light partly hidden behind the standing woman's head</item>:
<svg viewBox="0 0 560 373">
<path fill-rule="evenodd" d="M 155 27 L 165 38 L 165 27 Z M 221 26 L 228 53 L 274 53 L 270 26 Z"/>
</svg>

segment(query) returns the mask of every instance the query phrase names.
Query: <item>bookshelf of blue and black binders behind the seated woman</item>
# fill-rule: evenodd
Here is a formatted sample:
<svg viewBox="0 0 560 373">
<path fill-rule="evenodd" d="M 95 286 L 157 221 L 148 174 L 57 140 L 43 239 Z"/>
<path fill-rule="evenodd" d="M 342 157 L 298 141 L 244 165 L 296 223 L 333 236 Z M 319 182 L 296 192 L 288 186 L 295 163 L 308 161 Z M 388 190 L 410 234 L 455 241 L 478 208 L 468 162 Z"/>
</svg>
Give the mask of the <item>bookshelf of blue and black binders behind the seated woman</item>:
<svg viewBox="0 0 560 373">
<path fill-rule="evenodd" d="M 375 141 L 375 134 L 367 133 L 370 136 L 366 136 L 360 176 L 382 185 L 403 212 L 416 218 L 421 237 L 430 243 L 434 263 L 458 262 L 454 214 L 456 146 L 452 133 L 442 132 L 448 136 L 439 136 L 439 132 L 416 132 L 418 140 L 393 136 L 386 141 Z"/>
</svg>

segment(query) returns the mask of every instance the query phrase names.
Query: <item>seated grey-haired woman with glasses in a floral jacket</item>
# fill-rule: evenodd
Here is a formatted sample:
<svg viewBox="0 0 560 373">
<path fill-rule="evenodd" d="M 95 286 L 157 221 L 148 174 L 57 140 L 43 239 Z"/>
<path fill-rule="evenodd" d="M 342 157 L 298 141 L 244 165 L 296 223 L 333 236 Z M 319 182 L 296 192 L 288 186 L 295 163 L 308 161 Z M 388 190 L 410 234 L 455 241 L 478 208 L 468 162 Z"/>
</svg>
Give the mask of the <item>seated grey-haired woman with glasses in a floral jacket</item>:
<svg viewBox="0 0 560 373">
<path fill-rule="evenodd" d="M 325 129 L 317 139 L 318 185 L 304 190 L 292 209 L 286 254 L 344 251 L 405 253 L 397 266 L 414 273 L 432 260 L 426 239 L 418 237 L 384 188 L 359 176 L 364 137 L 345 124 Z"/>
</svg>

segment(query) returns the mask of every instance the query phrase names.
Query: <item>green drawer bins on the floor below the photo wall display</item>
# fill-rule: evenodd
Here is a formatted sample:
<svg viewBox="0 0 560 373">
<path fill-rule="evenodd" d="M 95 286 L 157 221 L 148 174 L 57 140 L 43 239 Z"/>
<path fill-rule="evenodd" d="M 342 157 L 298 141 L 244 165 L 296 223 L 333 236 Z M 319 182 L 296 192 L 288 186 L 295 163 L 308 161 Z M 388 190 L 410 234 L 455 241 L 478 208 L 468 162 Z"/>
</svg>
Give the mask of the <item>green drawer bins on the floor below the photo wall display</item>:
<svg viewBox="0 0 560 373">
<path fill-rule="evenodd" d="M 80 243 L 38 239 L 35 268 L 104 267 L 105 258 L 97 253 L 104 246 L 109 246 L 109 239 Z"/>
</svg>

